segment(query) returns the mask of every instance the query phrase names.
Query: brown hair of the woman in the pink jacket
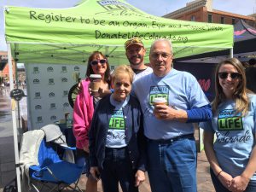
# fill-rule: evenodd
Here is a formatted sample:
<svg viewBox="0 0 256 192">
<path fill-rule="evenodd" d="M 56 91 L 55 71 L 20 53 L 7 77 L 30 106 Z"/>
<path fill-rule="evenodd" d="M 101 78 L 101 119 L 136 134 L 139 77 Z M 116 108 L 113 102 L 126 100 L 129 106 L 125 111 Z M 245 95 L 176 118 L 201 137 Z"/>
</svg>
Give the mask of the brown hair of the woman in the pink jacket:
<svg viewBox="0 0 256 192">
<path fill-rule="evenodd" d="M 87 70 L 86 70 L 86 77 L 89 78 L 90 74 L 94 74 L 92 67 L 90 65 L 90 62 L 96 57 L 96 56 L 102 56 L 107 62 L 107 70 L 104 74 L 104 81 L 107 82 L 108 84 L 110 84 L 110 69 L 109 69 L 109 64 L 108 64 L 108 59 L 105 55 L 102 54 L 102 52 L 100 51 L 94 51 L 88 58 L 88 64 L 87 64 Z"/>
</svg>

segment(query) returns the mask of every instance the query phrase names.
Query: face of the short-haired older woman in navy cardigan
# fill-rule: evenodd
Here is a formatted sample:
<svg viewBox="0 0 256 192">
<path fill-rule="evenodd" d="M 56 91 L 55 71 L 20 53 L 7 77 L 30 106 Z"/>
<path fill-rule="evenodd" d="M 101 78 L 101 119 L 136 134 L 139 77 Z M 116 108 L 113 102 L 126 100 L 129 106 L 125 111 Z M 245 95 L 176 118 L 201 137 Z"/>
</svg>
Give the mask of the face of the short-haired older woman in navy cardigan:
<svg viewBox="0 0 256 192">
<path fill-rule="evenodd" d="M 113 79 L 113 99 L 121 102 L 131 92 L 131 77 L 127 73 L 119 73 Z"/>
</svg>

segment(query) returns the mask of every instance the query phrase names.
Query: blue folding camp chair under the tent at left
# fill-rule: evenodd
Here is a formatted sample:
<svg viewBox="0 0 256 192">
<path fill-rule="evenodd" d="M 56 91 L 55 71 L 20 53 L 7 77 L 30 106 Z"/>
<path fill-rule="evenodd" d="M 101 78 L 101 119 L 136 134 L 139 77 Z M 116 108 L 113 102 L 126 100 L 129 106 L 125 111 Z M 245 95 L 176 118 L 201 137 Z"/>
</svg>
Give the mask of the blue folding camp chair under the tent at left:
<svg viewBox="0 0 256 192">
<path fill-rule="evenodd" d="M 32 187 L 38 192 L 42 191 L 44 187 L 48 187 L 49 192 L 61 191 L 65 188 L 81 192 L 78 183 L 84 166 L 61 160 L 60 154 L 58 154 L 59 148 L 60 146 L 55 143 L 46 143 L 45 139 L 42 140 L 38 151 L 39 165 L 29 167 Z M 65 147 L 65 149 L 73 150 L 75 148 Z M 41 185 L 40 189 L 34 182 Z"/>
</svg>

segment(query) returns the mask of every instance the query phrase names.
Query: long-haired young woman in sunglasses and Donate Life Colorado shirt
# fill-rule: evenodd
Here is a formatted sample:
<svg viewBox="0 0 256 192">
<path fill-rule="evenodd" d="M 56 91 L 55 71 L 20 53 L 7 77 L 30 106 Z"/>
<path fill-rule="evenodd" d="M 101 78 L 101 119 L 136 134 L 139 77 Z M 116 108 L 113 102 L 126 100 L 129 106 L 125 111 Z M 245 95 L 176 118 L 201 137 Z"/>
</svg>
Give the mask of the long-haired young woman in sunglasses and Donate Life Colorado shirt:
<svg viewBox="0 0 256 192">
<path fill-rule="evenodd" d="M 236 58 L 216 67 L 213 118 L 200 124 L 217 192 L 256 191 L 256 96 Z M 216 141 L 213 143 L 214 133 Z"/>
</svg>

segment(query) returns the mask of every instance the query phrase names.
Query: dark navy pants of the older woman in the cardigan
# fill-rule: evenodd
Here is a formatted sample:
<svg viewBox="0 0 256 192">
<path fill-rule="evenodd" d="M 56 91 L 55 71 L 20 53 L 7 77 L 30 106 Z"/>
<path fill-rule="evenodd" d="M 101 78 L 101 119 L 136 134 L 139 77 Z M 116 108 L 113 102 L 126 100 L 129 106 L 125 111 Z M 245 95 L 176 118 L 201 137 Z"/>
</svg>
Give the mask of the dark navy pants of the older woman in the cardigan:
<svg viewBox="0 0 256 192">
<path fill-rule="evenodd" d="M 126 148 L 106 148 L 103 169 L 101 170 L 104 192 L 138 192 L 135 187 L 135 173 Z"/>
</svg>

